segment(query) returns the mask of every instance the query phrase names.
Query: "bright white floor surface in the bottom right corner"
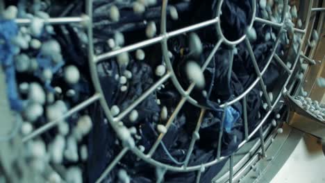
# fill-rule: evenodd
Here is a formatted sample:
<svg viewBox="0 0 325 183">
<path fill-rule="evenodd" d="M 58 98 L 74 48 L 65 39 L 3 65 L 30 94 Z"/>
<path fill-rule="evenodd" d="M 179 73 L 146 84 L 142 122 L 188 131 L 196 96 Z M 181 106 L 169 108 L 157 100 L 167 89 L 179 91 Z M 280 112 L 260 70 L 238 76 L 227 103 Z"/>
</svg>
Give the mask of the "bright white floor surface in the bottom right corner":
<svg viewBox="0 0 325 183">
<path fill-rule="evenodd" d="M 323 183 L 325 182 L 325 156 L 321 144 L 305 134 L 294 152 L 276 174 L 271 183 Z"/>
</svg>

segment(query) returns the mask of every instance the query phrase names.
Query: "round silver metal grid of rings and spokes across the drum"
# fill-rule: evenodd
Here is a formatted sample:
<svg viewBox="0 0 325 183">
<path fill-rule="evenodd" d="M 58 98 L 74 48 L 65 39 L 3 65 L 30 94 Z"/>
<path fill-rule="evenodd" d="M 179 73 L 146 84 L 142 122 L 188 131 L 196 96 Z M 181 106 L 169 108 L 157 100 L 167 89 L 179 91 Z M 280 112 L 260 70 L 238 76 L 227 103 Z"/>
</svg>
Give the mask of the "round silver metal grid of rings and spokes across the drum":
<svg viewBox="0 0 325 183">
<path fill-rule="evenodd" d="M 178 112 L 181 110 L 181 107 L 183 107 L 185 102 L 189 102 L 192 103 L 193 105 L 196 105 L 197 107 L 201 107 L 201 114 L 199 116 L 199 119 L 197 120 L 197 126 L 193 132 L 193 138 L 192 141 L 190 143 L 190 148 L 188 149 L 188 153 L 186 155 L 185 158 L 185 162 L 183 164 L 183 166 L 172 166 L 169 164 L 163 164 L 161 162 L 157 162 L 155 159 L 152 159 L 151 156 L 153 155 L 153 153 L 155 153 L 156 148 L 158 147 L 159 143 L 162 141 L 163 137 L 165 136 L 164 133 L 160 133 L 158 136 L 158 139 L 156 139 L 156 142 L 153 144 L 153 146 L 151 147 L 151 149 L 149 150 L 148 154 L 144 154 L 142 153 L 142 151 L 137 148 L 136 146 L 125 146 L 122 151 L 119 153 L 119 155 L 117 155 L 117 157 L 115 157 L 115 159 L 113 160 L 113 162 L 111 162 L 109 164 L 109 166 L 106 168 L 106 171 L 104 171 L 101 175 L 101 177 L 99 177 L 99 179 L 97 180 L 97 182 L 101 182 L 101 180 L 103 180 L 104 177 L 106 177 L 106 175 L 108 175 L 108 173 L 115 167 L 115 165 L 119 162 L 120 159 L 122 159 L 122 157 L 129 151 L 131 150 L 135 155 L 137 155 L 138 157 L 140 157 L 141 159 L 143 159 L 145 162 L 148 162 L 149 164 L 153 164 L 154 166 L 160 167 L 165 169 L 165 171 L 178 171 L 178 172 L 187 172 L 187 171 L 197 171 L 197 182 L 199 182 L 200 177 L 201 177 L 201 172 L 204 171 L 204 169 L 208 166 L 213 166 L 214 164 L 217 164 L 219 161 L 221 161 L 222 159 L 225 159 L 227 157 L 220 157 L 220 150 L 221 150 L 221 139 L 222 139 L 222 133 L 223 133 L 223 128 L 220 129 L 220 133 L 219 133 L 219 141 L 218 141 L 218 146 L 217 146 L 217 158 L 214 159 L 211 162 L 206 162 L 205 164 L 200 164 L 200 165 L 196 165 L 196 166 L 188 166 L 188 160 L 190 159 L 190 155 L 192 153 L 193 147 L 194 147 L 194 143 L 195 141 L 197 141 L 198 138 L 196 134 L 199 131 L 200 125 L 201 125 L 201 121 L 203 120 L 203 115 L 206 112 L 206 107 L 200 105 L 194 98 L 192 98 L 190 96 L 190 93 L 192 92 L 192 89 L 194 89 L 195 83 L 192 82 L 192 84 L 190 85 L 190 87 L 188 87 L 188 89 L 183 89 L 183 87 L 181 87 L 180 83 L 178 82 L 178 78 L 176 78 L 176 75 L 174 73 L 174 70 L 172 68 L 172 63 L 169 60 L 169 56 L 168 56 L 168 48 L 167 48 L 167 40 L 170 37 L 175 37 L 176 35 L 181 35 L 183 33 L 188 33 L 190 31 L 193 30 L 197 30 L 200 28 L 204 28 L 207 26 L 217 26 L 217 35 L 219 36 L 219 41 L 217 42 L 217 44 L 215 44 L 215 47 L 213 49 L 213 51 L 211 51 L 210 55 L 208 56 L 208 58 L 206 59 L 206 62 L 204 62 L 203 66 L 201 67 L 202 70 L 205 70 L 206 67 L 208 66 L 208 64 L 210 63 L 210 60 L 212 60 L 213 55 L 215 55 L 215 53 L 217 52 L 219 46 L 221 44 L 227 44 L 229 46 L 233 46 L 233 48 L 235 48 L 235 46 L 237 46 L 238 44 L 240 44 L 241 42 L 244 42 L 247 45 L 247 49 L 249 51 L 249 54 L 251 56 L 251 60 L 252 60 L 252 64 L 256 70 L 257 73 L 257 78 L 256 80 L 254 80 L 254 82 L 251 84 L 250 87 L 248 87 L 248 89 L 246 91 L 244 91 L 240 96 L 237 96 L 236 98 L 234 98 L 232 101 L 228 101 L 222 105 L 220 105 L 220 107 L 226 109 L 226 107 L 228 105 L 232 105 L 233 103 L 236 103 L 238 101 L 241 101 L 243 103 L 243 112 L 244 112 L 244 134 L 245 134 L 245 140 L 242 141 L 242 143 L 240 143 L 240 145 L 238 146 L 238 148 L 241 148 L 242 146 L 244 146 L 245 143 L 247 143 L 247 141 L 249 141 L 249 139 L 251 139 L 253 137 L 254 134 L 256 134 L 256 132 L 259 132 L 260 134 L 260 141 L 261 141 L 261 148 L 263 151 L 263 156 L 266 157 L 265 155 L 265 143 L 264 143 L 264 138 L 263 138 L 263 124 L 265 123 L 265 121 L 267 120 L 267 117 L 272 113 L 272 110 L 274 110 L 274 107 L 276 106 L 276 104 L 278 103 L 278 101 L 280 101 L 281 96 L 284 92 L 287 92 L 286 86 L 288 85 L 288 82 L 290 80 L 290 78 L 292 78 L 292 74 L 293 74 L 293 70 L 297 65 L 297 62 L 299 60 L 299 57 L 301 55 L 297 54 L 296 59 L 294 60 L 294 64 L 292 69 L 289 69 L 285 63 L 283 62 L 283 60 L 281 60 L 281 58 L 278 57 L 278 55 L 275 54 L 276 48 L 278 47 L 278 44 L 280 42 L 280 36 L 281 34 L 285 33 L 285 12 L 287 12 L 287 8 L 288 8 L 288 0 L 284 1 L 284 6 L 283 6 L 283 11 L 282 11 L 282 18 L 281 18 L 281 23 L 275 23 L 273 21 L 269 21 L 267 19 L 262 19 L 260 17 L 256 17 L 256 1 L 252 0 L 252 5 L 253 5 L 253 16 L 252 16 L 252 20 L 251 20 L 251 24 L 249 25 L 249 28 L 251 28 L 254 24 L 254 22 L 259 22 L 259 23 L 263 23 L 263 24 L 268 24 L 270 26 L 273 26 L 274 28 L 278 28 L 279 32 L 278 32 L 278 36 L 276 38 L 276 42 L 274 44 L 274 48 L 272 49 L 272 52 L 269 55 L 269 58 L 267 60 L 267 64 L 265 65 L 264 69 L 262 71 L 260 71 L 260 69 L 258 69 L 258 64 L 256 62 L 256 58 L 253 54 L 253 49 L 251 47 L 251 43 L 248 40 L 247 34 L 242 35 L 242 37 L 240 37 L 240 39 L 235 40 L 235 41 L 229 41 L 226 39 L 226 37 L 224 37 L 223 33 L 222 33 L 222 27 L 220 25 L 220 20 L 219 20 L 219 15 L 220 15 L 220 11 L 221 11 L 221 7 L 222 7 L 222 3 L 223 1 L 219 1 L 219 5 L 218 5 L 218 9 L 217 9 L 217 16 L 214 19 L 210 19 L 208 21 L 203 21 L 199 24 L 193 24 L 191 26 L 187 26 L 185 28 L 181 28 L 178 30 L 174 30 L 172 32 L 167 33 L 166 32 L 166 14 L 167 14 L 167 4 L 168 1 L 165 0 L 163 1 L 163 6 L 162 6 L 162 12 L 161 12 L 161 25 L 160 25 L 160 35 L 158 35 L 157 37 L 153 37 L 152 39 L 149 40 L 144 40 L 142 42 L 138 42 L 135 44 L 131 44 L 129 46 L 124 46 L 121 49 L 117 49 L 115 51 L 110 51 L 108 53 L 103 53 L 101 55 L 94 55 L 94 44 L 93 44 L 93 33 L 92 33 L 92 0 L 87 0 L 86 1 L 86 15 L 83 15 L 81 17 L 59 17 L 59 18 L 50 18 L 47 19 L 45 21 L 46 24 L 71 24 L 71 23 L 81 23 L 83 25 L 85 25 L 85 28 L 87 29 L 87 33 L 88 33 L 88 58 L 89 58 L 89 66 L 90 66 L 90 71 L 91 71 L 91 77 L 92 77 L 92 82 L 94 84 L 94 88 L 96 93 L 88 98 L 86 101 L 83 101 L 83 103 L 80 103 L 78 105 L 76 105 L 75 107 L 72 107 L 72 109 L 70 109 L 65 115 L 63 115 L 60 119 L 56 119 L 56 121 L 51 121 L 49 123 L 47 123 L 46 125 L 43 125 L 42 127 L 36 129 L 35 131 L 33 131 L 31 134 L 28 134 L 28 136 L 23 138 L 23 141 L 26 142 L 30 139 L 33 139 L 34 137 L 37 137 L 38 135 L 42 134 L 43 132 L 46 132 L 47 130 L 49 130 L 50 128 L 53 128 L 54 126 L 58 125 L 58 123 L 60 121 L 62 121 L 63 119 L 68 118 L 69 116 L 71 116 L 72 114 L 83 110 L 85 107 L 88 107 L 88 105 L 99 101 L 101 104 L 101 107 L 103 108 L 103 111 L 106 114 L 106 117 L 108 119 L 108 121 L 110 122 L 110 125 L 113 127 L 113 129 L 115 130 L 115 132 L 117 132 L 119 130 L 119 126 L 117 125 L 117 122 L 121 121 L 129 112 L 131 112 L 138 104 L 140 104 L 142 101 L 144 101 L 144 99 L 149 96 L 149 94 L 151 94 L 152 92 L 154 92 L 160 85 L 162 85 L 164 82 L 166 82 L 167 80 L 172 80 L 172 82 L 174 83 L 174 86 L 176 87 L 176 89 L 178 89 L 178 92 L 181 93 L 182 98 L 181 101 L 179 101 L 178 105 L 176 106 L 174 112 L 172 113 L 172 115 L 170 116 L 170 118 L 168 119 L 167 123 L 165 124 L 165 127 L 168 129 L 169 125 L 171 125 L 175 119 L 175 117 L 177 116 Z M 311 0 L 309 2 L 309 12 L 308 12 L 308 16 L 306 19 L 306 25 L 308 25 L 309 23 L 309 17 L 312 11 L 319 11 L 319 10 L 324 10 L 324 8 L 312 8 L 313 7 L 313 0 Z M 28 19 L 16 19 L 18 24 L 28 24 L 30 21 Z M 307 26 L 304 26 L 305 29 L 299 29 L 299 28 L 294 28 L 294 31 L 296 33 L 301 33 L 303 35 L 303 39 L 305 40 L 306 38 L 306 28 Z M 99 62 L 103 62 L 104 60 L 107 60 L 109 58 L 113 58 L 117 55 L 119 55 L 120 53 L 124 53 L 124 52 L 129 52 L 129 51 L 135 51 L 136 49 L 140 49 L 143 48 L 145 46 L 150 46 L 151 44 L 156 44 L 156 43 L 160 43 L 162 45 L 162 49 L 163 49 L 163 56 L 164 56 L 164 60 L 165 60 L 165 64 L 167 65 L 167 73 L 165 74 L 165 76 L 163 76 L 162 78 L 160 78 L 160 80 L 158 80 L 155 84 L 153 84 L 149 89 L 147 89 L 146 92 L 144 92 L 138 99 L 136 99 L 135 101 L 133 101 L 133 103 L 131 105 L 129 105 L 123 112 L 121 112 L 118 116 L 113 117 L 113 115 L 110 112 L 110 109 L 108 107 L 108 104 L 106 103 L 106 100 L 103 96 L 103 90 L 101 89 L 101 85 L 99 82 L 99 77 L 98 77 L 98 73 L 97 73 L 97 64 Z M 299 51 L 298 53 L 300 53 L 301 51 L 301 47 L 299 46 Z M 269 67 L 269 64 L 272 62 L 272 60 L 276 60 L 276 62 L 283 68 L 285 69 L 285 71 L 288 72 L 289 77 L 288 79 L 285 81 L 285 85 L 283 85 L 283 88 L 281 89 L 281 92 L 278 94 L 278 96 L 276 97 L 276 99 L 274 100 L 274 103 L 272 103 L 269 100 L 269 96 L 267 94 L 267 89 L 265 88 L 265 84 L 263 81 L 263 74 L 265 73 L 265 71 L 267 71 L 267 68 Z M 233 62 L 233 53 L 231 53 L 231 57 L 229 62 L 231 63 L 230 65 L 232 65 Z M 228 71 L 229 73 L 231 73 L 231 68 Z M 263 89 L 263 94 L 265 96 L 265 99 L 267 101 L 267 105 L 268 105 L 268 111 L 265 114 L 265 116 L 263 117 L 262 121 L 260 121 L 260 124 L 257 126 L 256 129 L 253 130 L 253 132 L 251 132 L 249 134 L 248 132 L 248 128 L 247 128 L 247 94 L 251 91 L 251 89 L 253 89 L 253 87 L 255 87 L 257 84 L 261 85 L 261 88 Z M 225 114 L 223 114 L 224 116 Z M 131 139 L 133 141 L 133 139 Z M 124 144 L 131 144 L 131 143 L 124 143 Z M 229 169 L 230 169 L 230 173 L 229 173 L 229 181 L 232 182 L 232 177 L 233 177 L 233 155 L 230 155 L 230 165 L 229 165 Z"/>
</svg>

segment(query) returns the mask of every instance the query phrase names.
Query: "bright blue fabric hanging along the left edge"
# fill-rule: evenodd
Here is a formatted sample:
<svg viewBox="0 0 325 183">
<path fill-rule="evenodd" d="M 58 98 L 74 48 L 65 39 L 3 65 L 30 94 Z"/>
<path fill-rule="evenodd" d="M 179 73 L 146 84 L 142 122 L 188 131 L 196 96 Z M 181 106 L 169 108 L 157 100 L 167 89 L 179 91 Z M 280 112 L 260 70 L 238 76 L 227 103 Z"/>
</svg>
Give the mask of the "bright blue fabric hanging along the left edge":
<svg viewBox="0 0 325 183">
<path fill-rule="evenodd" d="M 15 65 L 13 56 L 17 53 L 17 46 L 11 43 L 12 37 L 18 33 L 18 26 L 14 21 L 0 20 L 0 62 L 6 73 L 7 95 L 12 110 L 21 111 L 22 101 L 17 93 L 17 82 L 15 76 Z"/>
</svg>

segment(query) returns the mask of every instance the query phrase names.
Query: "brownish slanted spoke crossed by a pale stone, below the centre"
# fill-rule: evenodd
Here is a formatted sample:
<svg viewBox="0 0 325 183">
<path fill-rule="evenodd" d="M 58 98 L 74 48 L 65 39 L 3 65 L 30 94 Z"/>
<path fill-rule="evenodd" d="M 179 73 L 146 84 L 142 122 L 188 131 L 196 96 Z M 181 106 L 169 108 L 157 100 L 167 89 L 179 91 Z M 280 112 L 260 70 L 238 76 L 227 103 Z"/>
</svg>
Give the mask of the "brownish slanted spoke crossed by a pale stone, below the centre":
<svg viewBox="0 0 325 183">
<path fill-rule="evenodd" d="M 185 98 L 185 97 L 183 97 L 183 98 L 181 99 L 181 101 L 179 101 L 179 103 L 178 103 L 177 107 L 175 108 L 175 110 L 174 110 L 172 116 L 170 116 L 170 118 L 168 119 L 168 121 L 167 121 L 167 123 L 166 123 L 166 125 L 165 125 L 165 127 L 167 128 L 167 130 L 168 130 L 169 126 L 172 125 L 174 119 L 176 118 L 178 112 L 179 112 L 179 111 L 181 110 L 181 108 L 183 107 L 185 101 L 186 101 L 186 98 Z M 160 134 L 159 134 L 157 140 L 155 141 L 155 143 L 153 144 L 153 146 L 152 146 L 151 149 L 149 150 L 149 153 L 147 154 L 147 157 L 151 157 L 151 156 L 153 155 L 153 153 L 155 153 L 156 149 L 158 148 L 158 145 L 159 145 L 160 141 L 163 140 L 163 137 L 164 137 L 164 136 L 165 136 L 164 133 L 160 133 Z"/>
</svg>

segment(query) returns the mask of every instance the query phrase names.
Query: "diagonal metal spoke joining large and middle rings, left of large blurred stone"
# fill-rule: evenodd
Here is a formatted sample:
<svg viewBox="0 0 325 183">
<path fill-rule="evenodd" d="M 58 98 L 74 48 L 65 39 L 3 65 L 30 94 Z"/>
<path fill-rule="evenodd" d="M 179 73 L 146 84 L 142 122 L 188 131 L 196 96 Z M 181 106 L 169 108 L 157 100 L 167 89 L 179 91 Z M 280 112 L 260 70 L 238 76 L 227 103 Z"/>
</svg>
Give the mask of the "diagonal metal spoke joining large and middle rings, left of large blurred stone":
<svg viewBox="0 0 325 183">
<path fill-rule="evenodd" d="M 129 112 L 131 112 L 137 105 L 139 105 L 142 101 L 144 101 L 147 96 L 152 94 L 160 85 L 162 85 L 169 77 L 171 76 L 171 73 L 168 72 L 163 76 L 163 78 L 160 78 L 154 85 L 152 85 L 149 89 L 147 89 L 146 92 L 144 92 L 139 98 L 137 98 L 131 105 L 129 105 L 123 112 L 121 112 L 117 117 L 114 118 L 114 121 L 121 121 L 124 116 L 126 116 Z"/>
</svg>

